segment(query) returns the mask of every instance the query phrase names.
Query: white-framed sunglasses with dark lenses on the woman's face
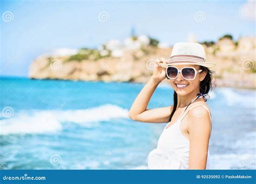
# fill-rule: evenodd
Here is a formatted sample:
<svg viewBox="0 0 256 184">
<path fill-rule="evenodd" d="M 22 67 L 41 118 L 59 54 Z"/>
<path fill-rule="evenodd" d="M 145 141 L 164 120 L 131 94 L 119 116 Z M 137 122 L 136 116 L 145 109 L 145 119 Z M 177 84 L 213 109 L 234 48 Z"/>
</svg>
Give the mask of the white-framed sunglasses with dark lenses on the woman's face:
<svg viewBox="0 0 256 184">
<path fill-rule="evenodd" d="M 166 68 L 166 75 L 168 79 L 176 79 L 178 77 L 178 74 L 180 73 L 183 79 L 191 81 L 196 78 L 197 74 L 202 72 L 203 70 L 199 69 L 198 71 L 196 68 L 193 67 L 184 67 L 181 69 L 178 69 L 173 66 L 169 66 Z"/>
</svg>

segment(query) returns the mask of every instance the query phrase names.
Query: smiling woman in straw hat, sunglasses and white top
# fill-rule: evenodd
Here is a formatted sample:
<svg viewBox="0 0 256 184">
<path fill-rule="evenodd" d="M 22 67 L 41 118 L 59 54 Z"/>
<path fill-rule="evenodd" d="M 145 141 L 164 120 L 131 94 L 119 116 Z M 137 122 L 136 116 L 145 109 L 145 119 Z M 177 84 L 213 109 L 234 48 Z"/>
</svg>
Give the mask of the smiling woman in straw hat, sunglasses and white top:
<svg viewBox="0 0 256 184">
<path fill-rule="evenodd" d="M 212 88 L 214 66 L 215 63 L 206 61 L 204 47 L 197 43 L 177 43 L 169 62 L 157 60 L 151 79 L 129 112 L 134 121 L 169 122 L 157 148 L 147 157 L 149 169 L 210 168 L 208 144 L 212 122 L 205 102 Z M 173 105 L 147 109 L 154 90 L 165 77 L 174 89 Z"/>
</svg>

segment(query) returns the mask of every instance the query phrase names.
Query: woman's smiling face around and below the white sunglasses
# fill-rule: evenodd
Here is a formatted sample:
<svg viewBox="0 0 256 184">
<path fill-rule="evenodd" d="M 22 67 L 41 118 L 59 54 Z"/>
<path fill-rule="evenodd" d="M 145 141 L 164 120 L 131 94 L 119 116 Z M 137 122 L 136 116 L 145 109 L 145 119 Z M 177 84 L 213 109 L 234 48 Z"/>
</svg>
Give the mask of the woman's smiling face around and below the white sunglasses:
<svg viewBox="0 0 256 184">
<path fill-rule="evenodd" d="M 193 67 L 197 70 L 200 69 L 200 67 L 198 65 L 176 65 L 175 66 L 178 69 L 184 68 L 184 67 Z M 178 95 L 187 95 L 192 93 L 192 91 L 197 91 L 199 90 L 199 84 L 200 81 L 203 81 L 204 78 L 206 76 L 206 72 L 202 71 L 200 73 L 197 73 L 196 77 L 194 78 L 194 80 L 185 80 L 180 73 L 178 73 L 178 76 L 176 79 L 171 79 L 171 85 L 173 87 L 173 89 L 176 91 L 176 93 Z M 184 84 L 186 86 L 184 86 Z M 182 86 L 180 86 L 182 85 Z"/>
</svg>

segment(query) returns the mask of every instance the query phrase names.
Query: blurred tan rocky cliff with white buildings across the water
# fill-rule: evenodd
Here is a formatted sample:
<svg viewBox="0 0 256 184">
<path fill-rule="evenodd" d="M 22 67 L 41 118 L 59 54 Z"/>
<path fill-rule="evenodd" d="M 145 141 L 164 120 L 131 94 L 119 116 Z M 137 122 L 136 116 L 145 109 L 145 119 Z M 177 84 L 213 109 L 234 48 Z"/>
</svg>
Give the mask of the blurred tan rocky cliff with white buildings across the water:
<svg viewBox="0 0 256 184">
<path fill-rule="evenodd" d="M 207 60 L 216 62 L 217 86 L 255 88 L 255 38 L 203 43 Z M 172 47 L 148 37 L 109 41 L 98 49 L 60 49 L 31 63 L 32 79 L 147 82 L 154 60 L 170 58 Z"/>
</svg>

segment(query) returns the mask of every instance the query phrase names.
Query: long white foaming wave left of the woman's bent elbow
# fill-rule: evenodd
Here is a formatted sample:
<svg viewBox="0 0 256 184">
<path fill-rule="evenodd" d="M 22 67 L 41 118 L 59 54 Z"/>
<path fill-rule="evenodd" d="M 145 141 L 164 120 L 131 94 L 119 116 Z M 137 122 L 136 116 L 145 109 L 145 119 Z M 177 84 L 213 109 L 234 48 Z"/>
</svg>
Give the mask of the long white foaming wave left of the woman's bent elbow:
<svg viewBox="0 0 256 184">
<path fill-rule="evenodd" d="M 128 118 L 128 110 L 116 105 L 79 110 L 44 110 L 17 112 L 15 117 L 0 120 L 0 135 L 14 133 L 47 133 L 62 130 L 62 123 L 71 122 L 91 127 L 95 122 L 111 118 Z"/>
</svg>

